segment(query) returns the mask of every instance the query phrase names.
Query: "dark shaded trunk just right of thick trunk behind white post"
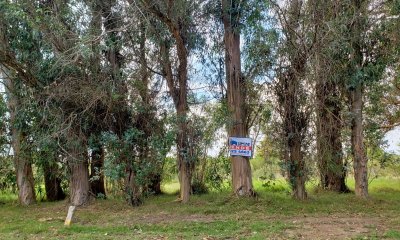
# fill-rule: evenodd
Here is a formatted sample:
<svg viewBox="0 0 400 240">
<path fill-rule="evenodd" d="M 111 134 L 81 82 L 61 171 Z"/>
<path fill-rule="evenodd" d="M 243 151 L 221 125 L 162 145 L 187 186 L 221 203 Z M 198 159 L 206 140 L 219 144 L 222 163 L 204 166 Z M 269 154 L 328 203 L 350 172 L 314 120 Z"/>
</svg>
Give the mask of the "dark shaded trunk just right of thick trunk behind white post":
<svg viewBox="0 0 400 240">
<path fill-rule="evenodd" d="M 95 197 L 105 197 L 106 189 L 104 187 L 104 149 L 98 144 L 92 149 L 90 164 L 90 190 Z"/>
</svg>

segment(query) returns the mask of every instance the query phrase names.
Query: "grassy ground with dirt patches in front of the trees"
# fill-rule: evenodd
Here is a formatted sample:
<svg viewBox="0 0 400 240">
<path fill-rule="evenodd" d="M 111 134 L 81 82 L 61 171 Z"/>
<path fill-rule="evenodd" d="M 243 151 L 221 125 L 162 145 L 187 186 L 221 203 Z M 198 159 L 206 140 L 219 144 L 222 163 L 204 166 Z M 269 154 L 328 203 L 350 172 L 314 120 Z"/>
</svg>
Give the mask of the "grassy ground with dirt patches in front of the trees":
<svg viewBox="0 0 400 240">
<path fill-rule="evenodd" d="M 63 225 L 66 201 L 21 207 L 1 194 L 0 239 L 400 239 L 400 179 L 374 180 L 369 200 L 310 185 L 310 199 L 298 202 L 277 181 L 268 188 L 256 182 L 256 199 L 212 192 L 182 205 L 172 194 L 177 186 L 137 208 L 94 200 L 70 227 Z"/>
</svg>

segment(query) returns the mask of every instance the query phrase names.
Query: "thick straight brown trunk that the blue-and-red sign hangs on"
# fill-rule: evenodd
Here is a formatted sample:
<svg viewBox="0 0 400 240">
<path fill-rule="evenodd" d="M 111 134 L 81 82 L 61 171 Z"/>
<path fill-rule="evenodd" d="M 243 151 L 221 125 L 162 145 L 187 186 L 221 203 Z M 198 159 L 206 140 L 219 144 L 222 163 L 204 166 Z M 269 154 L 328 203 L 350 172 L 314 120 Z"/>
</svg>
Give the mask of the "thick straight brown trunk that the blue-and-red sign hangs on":
<svg viewBox="0 0 400 240">
<path fill-rule="evenodd" d="M 227 97 L 230 110 L 228 123 L 230 137 L 247 137 L 246 126 L 246 84 L 241 73 L 240 62 L 240 32 L 237 19 L 238 13 L 233 13 L 239 1 L 222 0 L 222 16 L 224 23 L 225 68 L 227 82 Z M 248 157 L 231 156 L 232 187 L 237 196 L 253 196 L 251 166 Z"/>
</svg>

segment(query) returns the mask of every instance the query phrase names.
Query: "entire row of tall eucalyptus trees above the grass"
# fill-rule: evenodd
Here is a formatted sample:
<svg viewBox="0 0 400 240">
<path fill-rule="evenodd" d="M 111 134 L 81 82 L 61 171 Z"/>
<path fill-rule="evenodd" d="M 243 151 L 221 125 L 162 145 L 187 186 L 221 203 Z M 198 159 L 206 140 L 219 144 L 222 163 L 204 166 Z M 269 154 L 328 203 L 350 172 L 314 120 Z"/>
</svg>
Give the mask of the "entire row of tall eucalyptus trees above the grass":
<svg viewBox="0 0 400 240">
<path fill-rule="evenodd" d="M 50 201 L 84 205 L 110 181 L 136 206 L 175 146 L 185 203 L 207 168 L 220 181 L 207 149 L 222 129 L 263 136 L 297 199 L 311 166 L 336 192 L 353 166 L 366 198 L 369 155 L 400 125 L 399 14 L 398 0 L 1 0 L 1 161 L 23 205 L 36 174 Z M 232 191 L 254 196 L 249 158 L 230 164 Z"/>
</svg>

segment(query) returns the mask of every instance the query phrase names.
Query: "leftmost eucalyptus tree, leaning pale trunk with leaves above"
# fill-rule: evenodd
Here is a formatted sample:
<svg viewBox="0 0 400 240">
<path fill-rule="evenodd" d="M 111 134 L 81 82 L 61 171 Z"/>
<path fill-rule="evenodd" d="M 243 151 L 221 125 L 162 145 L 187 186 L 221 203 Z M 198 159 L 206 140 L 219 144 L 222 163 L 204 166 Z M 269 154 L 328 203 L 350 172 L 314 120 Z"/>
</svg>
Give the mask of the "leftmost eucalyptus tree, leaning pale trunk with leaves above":
<svg viewBox="0 0 400 240">
<path fill-rule="evenodd" d="M 15 13 L 8 12 L 11 11 L 11 5 L 2 2 L 0 6 L 0 75 L 4 79 L 3 83 L 7 93 L 7 105 L 10 114 L 9 131 L 11 132 L 11 146 L 19 189 L 18 200 L 22 205 L 29 205 L 36 202 L 36 195 L 32 159 L 26 151 L 28 134 L 23 129 L 26 119 L 23 119 L 23 114 L 21 114 L 23 112 L 21 89 L 24 87 L 23 81 L 32 81 L 33 77 L 30 72 L 20 73 L 24 67 L 19 61 L 21 59 L 18 59 L 13 50 L 16 50 L 19 45 L 27 44 L 26 41 L 19 42 L 21 34 L 25 33 L 28 38 L 32 35 L 29 32 L 29 26 L 21 23 L 21 19 L 17 19 Z M 20 26 L 17 27 L 18 25 Z M 18 34 L 17 38 L 12 38 Z M 31 46 L 30 50 L 36 50 L 37 47 L 34 43 L 28 46 Z M 32 60 L 26 53 L 26 51 L 21 52 L 19 57 Z M 32 64 L 30 66 L 33 67 Z"/>
</svg>

